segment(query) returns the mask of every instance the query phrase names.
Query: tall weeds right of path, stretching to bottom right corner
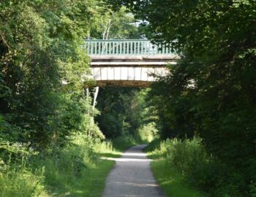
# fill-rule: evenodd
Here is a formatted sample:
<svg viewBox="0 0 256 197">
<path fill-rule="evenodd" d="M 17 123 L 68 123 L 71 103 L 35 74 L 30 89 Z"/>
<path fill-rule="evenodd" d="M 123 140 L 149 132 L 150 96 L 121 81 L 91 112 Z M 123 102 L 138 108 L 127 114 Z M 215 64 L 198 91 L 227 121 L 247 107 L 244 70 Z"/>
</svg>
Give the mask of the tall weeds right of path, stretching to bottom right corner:
<svg viewBox="0 0 256 197">
<path fill-rule="evenodd" d="M 147 151 L 149 157 L 157 159 L 152 163 L 152 167 L 159 180 L 170 181 L 173 175 L 168 175 L 168 171 L 174 170 L 180 173 L 179 176 L 182 177 L 185 185 L 198 188 L 208 196 L 255 197 L 255 182 L 246 185 L 245 172 L 227 166 L 226 163 L 208 154 L 200 138 L 165 141 L 156 139 L 149 144 Z M 160 169 L 165 173 L 160 172 Z M 251 171 L 253 173 L 255 167 L 252 167 Z M 170 190 L 172 186 L 164 187 Z"/>
</svg>

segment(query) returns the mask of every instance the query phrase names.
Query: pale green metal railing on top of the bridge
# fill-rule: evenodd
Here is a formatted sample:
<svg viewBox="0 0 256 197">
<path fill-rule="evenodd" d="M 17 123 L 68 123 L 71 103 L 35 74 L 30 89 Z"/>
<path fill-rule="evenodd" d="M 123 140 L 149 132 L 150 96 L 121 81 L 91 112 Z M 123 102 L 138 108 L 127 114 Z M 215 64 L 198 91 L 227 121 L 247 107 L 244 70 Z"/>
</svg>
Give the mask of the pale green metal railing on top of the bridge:
<svg viewBox="0 0 256 197">
<path fill-rule="evenodd" d="M 86 39 L 85 48 L 89 55 L 175 54 L 170 44 L 154 45 L 146 39 Z"/>
</svg>

